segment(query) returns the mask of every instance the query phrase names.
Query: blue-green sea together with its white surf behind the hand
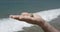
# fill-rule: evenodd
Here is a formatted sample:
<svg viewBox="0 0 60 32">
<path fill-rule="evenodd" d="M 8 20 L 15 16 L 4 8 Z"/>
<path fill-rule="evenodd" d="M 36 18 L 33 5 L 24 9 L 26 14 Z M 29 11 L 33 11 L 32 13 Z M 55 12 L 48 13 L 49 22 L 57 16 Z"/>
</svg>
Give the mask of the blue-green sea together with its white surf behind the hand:
<svg viewBox="0 0 60 32">
<path fill-rule="evenodd" d="M 23 27 L 31 27 L 23 21 L 6 18 L 10 14 L 32 12 L 40 15 L 47 22 L 60 15 L 60 0 L 0 0 L 0 32 L 24 31 Z"/>
</svg>

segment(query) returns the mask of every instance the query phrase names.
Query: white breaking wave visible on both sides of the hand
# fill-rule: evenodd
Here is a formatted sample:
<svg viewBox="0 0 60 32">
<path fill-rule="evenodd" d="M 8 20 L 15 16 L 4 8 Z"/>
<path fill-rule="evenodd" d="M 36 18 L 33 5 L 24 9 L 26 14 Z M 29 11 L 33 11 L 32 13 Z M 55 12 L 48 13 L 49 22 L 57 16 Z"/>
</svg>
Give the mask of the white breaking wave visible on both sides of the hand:
<svg viewBox="0 0 60 32">
<path fill-rule="evenodd" d="M 36 12 L 35 14 L 40 15 L 44 20 L 49 22 L 60 15 L 60 9 L 45 10 L 41 12 Z M 31 26 L 33 25 L 24 21 L 18 21 L 11 18 L 0 19 L 0 32 L 22 31 L 23 27 Z"/>
</svg>

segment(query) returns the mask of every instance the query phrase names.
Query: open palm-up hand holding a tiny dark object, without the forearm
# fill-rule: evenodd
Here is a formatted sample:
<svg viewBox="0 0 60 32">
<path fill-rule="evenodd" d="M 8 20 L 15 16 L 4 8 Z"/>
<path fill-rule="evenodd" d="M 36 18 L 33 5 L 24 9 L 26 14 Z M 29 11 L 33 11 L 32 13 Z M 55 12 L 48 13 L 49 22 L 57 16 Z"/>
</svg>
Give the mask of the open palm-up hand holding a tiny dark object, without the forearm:
<svg viewBox="0 0 60 32">
<path fill-rule="evenodd" d="M 21 15 L 10 15 L 10 18 L 17 19 L 20 21 L 25 21 L 25 22 L 28 22 L 31 24 L 38 24 L 43 21 L 41 16 L 36 15 L 36 14 L 27 13 L 27 12 L 24 12 Z"/>
</svg>

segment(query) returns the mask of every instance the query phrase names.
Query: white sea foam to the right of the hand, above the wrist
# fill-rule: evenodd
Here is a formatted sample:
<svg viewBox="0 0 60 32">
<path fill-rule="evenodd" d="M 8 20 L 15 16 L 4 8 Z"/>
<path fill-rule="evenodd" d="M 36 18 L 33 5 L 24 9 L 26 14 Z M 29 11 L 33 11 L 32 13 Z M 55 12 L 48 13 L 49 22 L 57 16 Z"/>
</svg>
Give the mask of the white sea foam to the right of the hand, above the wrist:
<svg viewBox="0 0 60 32">
<path fill-rule="evenodd" d="M 60 15 L 60 9 L 45 10 L 36 12 L 36 14 L 40 15 L 44 20 L 49 22 Z"/>
</svg>

